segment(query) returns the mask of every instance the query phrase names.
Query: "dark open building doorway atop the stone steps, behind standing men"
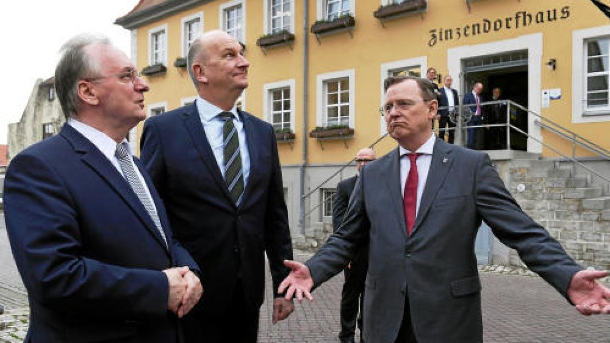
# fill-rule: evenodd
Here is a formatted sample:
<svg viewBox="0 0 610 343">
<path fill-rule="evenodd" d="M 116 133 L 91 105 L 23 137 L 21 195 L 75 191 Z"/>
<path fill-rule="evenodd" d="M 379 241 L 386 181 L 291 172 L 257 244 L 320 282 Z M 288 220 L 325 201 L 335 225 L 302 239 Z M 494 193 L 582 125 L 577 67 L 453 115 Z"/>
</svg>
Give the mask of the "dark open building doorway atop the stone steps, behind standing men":
<svg viewBox="0 0 610 343">
<path fill-rule="evenodd" d="M 501 89 L 501 98 L 528 107 L 528 51 L 512 51 L 490 56 L 462 59 L 462 89 L 471 92 L 476 82 L 483 84 L 481 99 L 492 101 L 493 88 Z M 490 109 L 490 106 L 487 106 Z M 483 115 L 486 115 L 485 108 Z M 509 106 L 511 125 L 528 132 L 528 112 Z M 485 130 L 489 136 L 489 130 Z M 492 131 L 493 132 L 493 131 Z M 489 141 L 492 137 L 485 137 Z M 527 137 L 511 130 L 511 150 L 527 150 Z"/>
</svg>

